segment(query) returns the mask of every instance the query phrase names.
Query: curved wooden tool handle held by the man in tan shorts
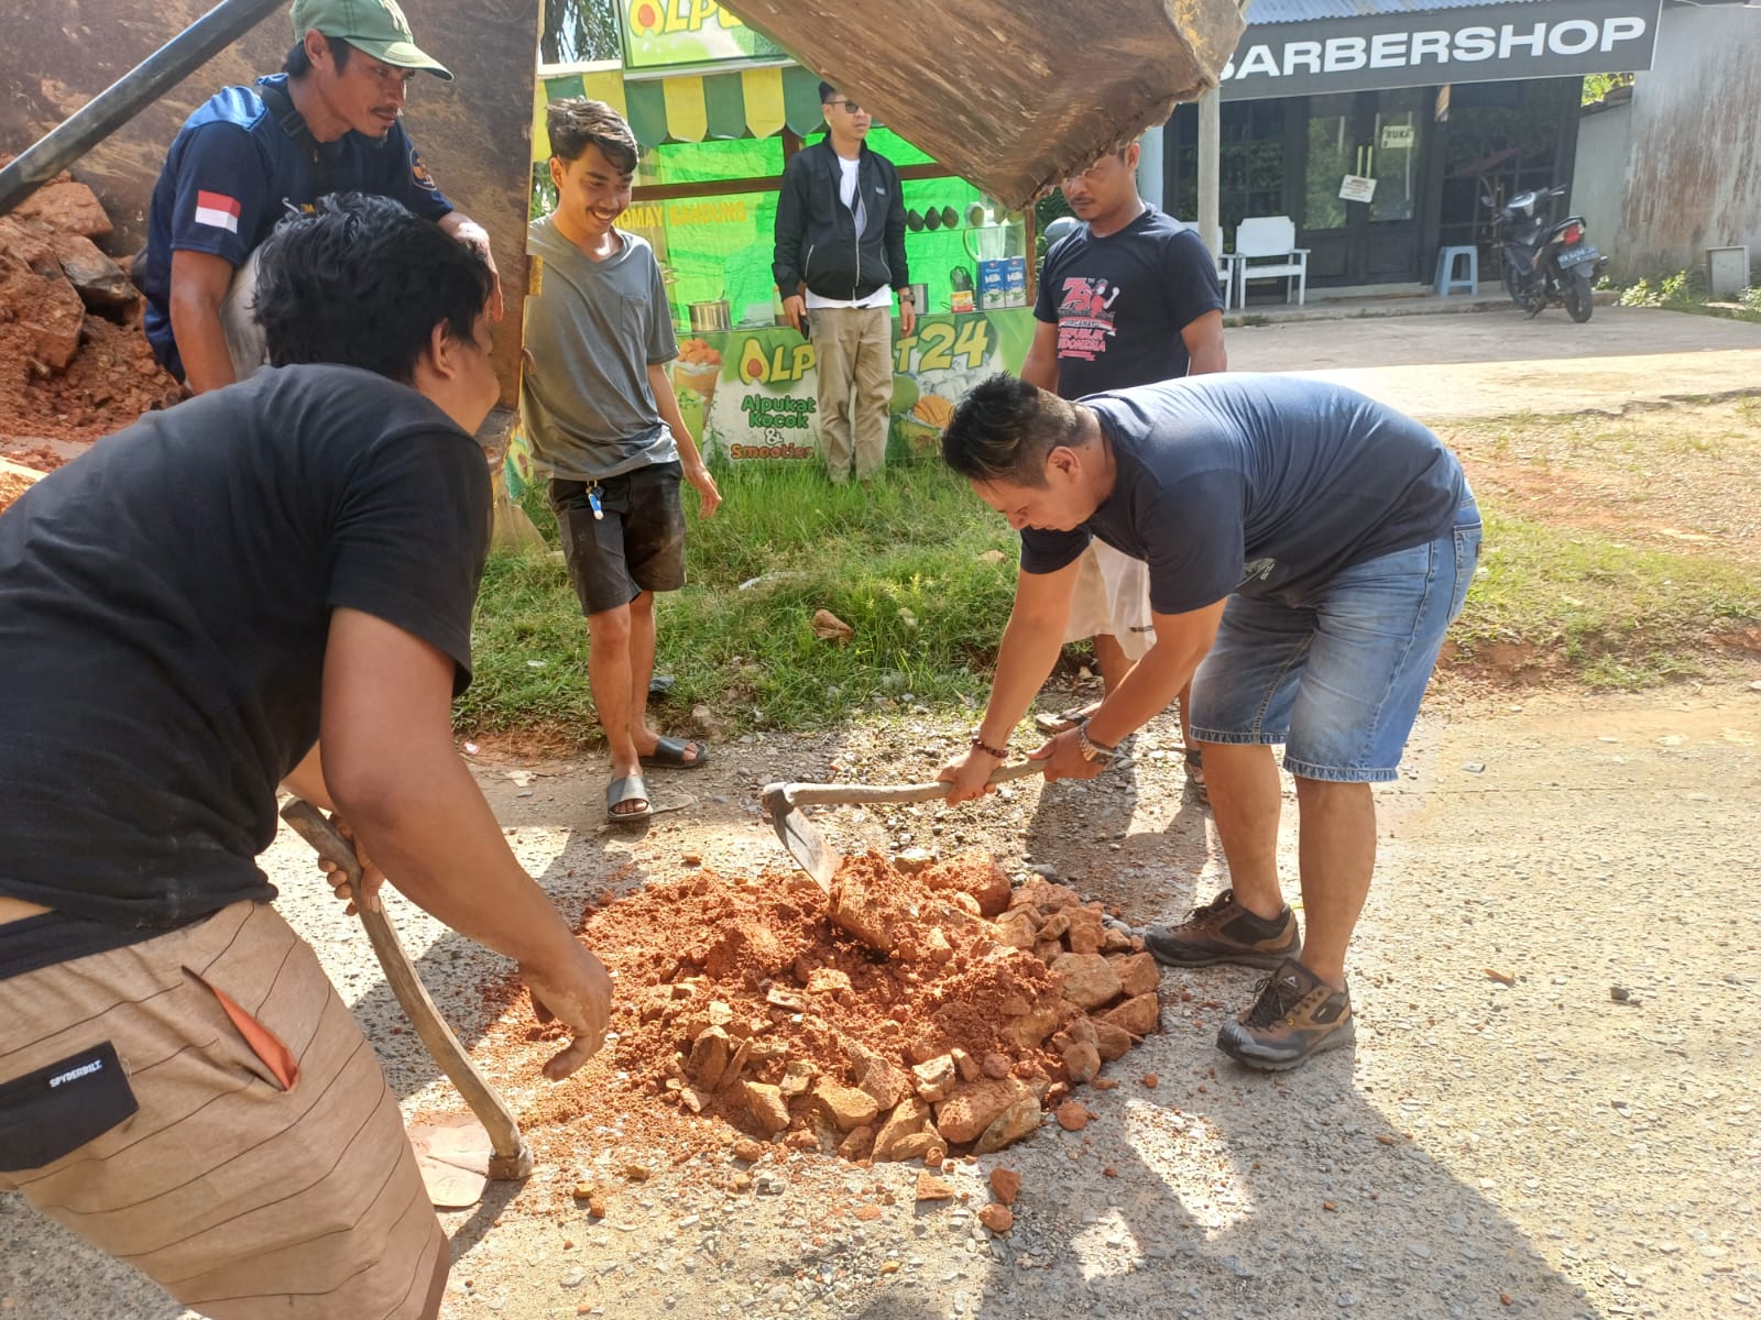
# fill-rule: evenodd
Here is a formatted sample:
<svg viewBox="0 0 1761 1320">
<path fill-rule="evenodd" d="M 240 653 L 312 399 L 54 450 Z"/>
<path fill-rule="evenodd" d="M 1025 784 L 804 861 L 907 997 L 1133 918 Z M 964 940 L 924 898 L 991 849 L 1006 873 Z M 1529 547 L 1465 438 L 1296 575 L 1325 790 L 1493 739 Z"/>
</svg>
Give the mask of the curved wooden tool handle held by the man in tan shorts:
<svg viewBox="0 0 1761 1320">
<path fill-rule="evenodd" d="M 428 998 L 428 987 L 416 975 L 410 956 L 403 952 L 403 943 L 398 940 L 398 931 L 391 924 L 391 919 L 382 908 L 370 908 L 361 901 L 361 862 L 354 855 L 354 845 L 342 836 L 329 817 L 299 797 L 291 799 L 282 808 L 282 820 L 292 825 L 299 838 L 317 848 L 319 857 L 347 875 L 349 882 L 356 887 L 354 910 L 361 917 L 361 926 L 366 928 L 366 938 L 379 956 L 379 966 L 386 970 L 391 993 L 398 996 L 405 1017 L 410 1019 L 416 1035 L 428 1045 L 428 1052 L 440 1065 L 440 1072 L 451 1079 L 458 1093 L 465 1096 L 465 1104 L 470 1105 L 470 1112 L 483 1123 L 483 1130 L 490 1133 L 490 1177 L 502 1181 L 528 1177 L 532 1174 L 532 1149 L 527 1146 L 525 1137 L 519 1135 L 519 1125 L 514 1121 L 512 1111 L 507 1109 L 507 1104 L 495 1093 L 495 1088 L 477 1072 L 477 1065 L 465 1054 L 465 1047 L 458 1044 L 453 1028 L 446 1024 L 440 1010 L 435 1008 L 435 1001 Z"/>
</svg>

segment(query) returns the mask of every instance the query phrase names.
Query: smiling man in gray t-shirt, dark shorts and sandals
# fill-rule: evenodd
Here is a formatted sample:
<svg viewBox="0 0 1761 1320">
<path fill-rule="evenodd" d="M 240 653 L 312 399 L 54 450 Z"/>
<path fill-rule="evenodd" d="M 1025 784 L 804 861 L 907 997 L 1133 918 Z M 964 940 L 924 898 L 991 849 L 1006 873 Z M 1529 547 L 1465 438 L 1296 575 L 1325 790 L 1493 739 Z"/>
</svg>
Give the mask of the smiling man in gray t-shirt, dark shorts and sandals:
<svg viewBox="0 0 1761 1320">
<path fill-rule="evenodd" d="M 527 234 L 519 415 L 549 477 L 564 560 L 592 642 L 588 685 L 611 752 L 606 817 L 653 815 L 643 766 L 694 769 L 706 743 L 648 725 L 653 593 L 685 584 L 680 477 L 710 517 L 722 502 L 678 412 L 678 356 L 653 248 L 616 227 L 630 204 L 636 137 L 601 100 L 548 109 L 556 209 Z"/>
</svg>

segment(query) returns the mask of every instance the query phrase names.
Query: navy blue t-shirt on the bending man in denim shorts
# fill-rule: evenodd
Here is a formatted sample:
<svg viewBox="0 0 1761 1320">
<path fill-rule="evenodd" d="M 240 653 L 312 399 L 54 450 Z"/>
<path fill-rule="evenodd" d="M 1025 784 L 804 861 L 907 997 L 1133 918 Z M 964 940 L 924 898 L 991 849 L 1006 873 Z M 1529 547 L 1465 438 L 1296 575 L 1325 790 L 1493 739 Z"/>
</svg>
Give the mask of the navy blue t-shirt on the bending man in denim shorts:
<svg viewBox="0 0 1761 1320">
<path fill-rule="evenodd" d="M 1113 493 L 1074 532 L 1021 532 L 1021 568 L 1057 572 L 1099 537 L 1150 565 L 1150 605 L 1233 591 L 1300 605 L 1344 568 L 1442 535 L 1467 496 L 1426 428 L 1321 380 L 1203 375 L 1095 394 Z"/>
</svg>

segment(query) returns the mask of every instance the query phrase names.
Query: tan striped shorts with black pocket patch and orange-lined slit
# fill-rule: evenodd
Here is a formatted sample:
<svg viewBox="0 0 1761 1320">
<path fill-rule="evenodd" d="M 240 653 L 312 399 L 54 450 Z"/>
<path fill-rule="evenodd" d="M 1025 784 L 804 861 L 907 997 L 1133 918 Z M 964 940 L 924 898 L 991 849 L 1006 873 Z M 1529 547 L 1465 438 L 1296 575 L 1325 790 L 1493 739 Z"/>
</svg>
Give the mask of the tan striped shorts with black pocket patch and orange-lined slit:
<svg viewBox="0 0 1761 1320">
<path fill-rule="evenodd" d="M 398 1102 L 268 905 L 0 980 L 5 1190 L 215 1320 L 405 1320 L 444 1285 Z"/>
</svg>

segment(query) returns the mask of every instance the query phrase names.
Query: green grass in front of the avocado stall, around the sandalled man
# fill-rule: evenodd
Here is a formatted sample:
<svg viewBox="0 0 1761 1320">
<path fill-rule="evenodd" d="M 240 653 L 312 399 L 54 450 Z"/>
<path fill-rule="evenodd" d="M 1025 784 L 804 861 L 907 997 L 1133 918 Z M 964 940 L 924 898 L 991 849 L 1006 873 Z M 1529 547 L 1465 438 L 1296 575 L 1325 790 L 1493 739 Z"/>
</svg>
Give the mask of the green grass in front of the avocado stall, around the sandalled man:
<svg viewBox="0 0 1761 1320">
<path fill-rule="evenodd" d="M 916 463 L 873 486 L 835 488 L 807 468 L 722 468 L 717 482 L 720 512 L 687 514 L 690 583 L 657 607 L 671 708 L 710 702 L 734 727 L 814 729 L 858 709 L 983 700 L 1016 537 L 963 480 Z M 527 509 L 555 540 L 542 503 Z M 854 637 L 815 637 L 821 609 Z M 562 563 L 491 556 L 475 664 L 461 729 L 590 725 L 586 623 Z"/>
</svg>

